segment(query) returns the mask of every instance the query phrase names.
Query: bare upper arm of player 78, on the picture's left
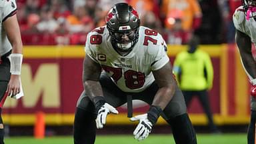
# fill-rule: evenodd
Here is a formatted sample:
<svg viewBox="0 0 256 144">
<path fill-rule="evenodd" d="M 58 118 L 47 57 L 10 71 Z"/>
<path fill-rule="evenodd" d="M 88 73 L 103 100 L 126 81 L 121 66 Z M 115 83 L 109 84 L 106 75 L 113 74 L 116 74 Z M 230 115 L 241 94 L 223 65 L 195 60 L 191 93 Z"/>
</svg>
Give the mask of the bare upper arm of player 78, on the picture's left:
<svg viewBox="0 0 256 144">
<path fill-rule="evenodd" d="M 85 59 L 83 60 L 83 81 L 99 81 L 100 75 L 101 65 L 93 61 L 88 55 L 85 55 Z"/>
</svg>

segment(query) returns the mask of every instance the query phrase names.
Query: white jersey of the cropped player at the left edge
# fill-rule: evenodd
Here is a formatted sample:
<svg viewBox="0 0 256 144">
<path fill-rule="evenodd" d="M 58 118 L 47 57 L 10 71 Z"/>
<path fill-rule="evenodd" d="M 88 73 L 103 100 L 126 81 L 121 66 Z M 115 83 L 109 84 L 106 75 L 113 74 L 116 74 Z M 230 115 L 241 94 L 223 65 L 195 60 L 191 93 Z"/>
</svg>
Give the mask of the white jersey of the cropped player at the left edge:
<svg viewBox="0 0 256 144">
<path fill-rule="evenodd" d="M 0 56 L 11 50 L 3 22 L 17 11 L 15 0 L 0 0 Z"/>
</svg>

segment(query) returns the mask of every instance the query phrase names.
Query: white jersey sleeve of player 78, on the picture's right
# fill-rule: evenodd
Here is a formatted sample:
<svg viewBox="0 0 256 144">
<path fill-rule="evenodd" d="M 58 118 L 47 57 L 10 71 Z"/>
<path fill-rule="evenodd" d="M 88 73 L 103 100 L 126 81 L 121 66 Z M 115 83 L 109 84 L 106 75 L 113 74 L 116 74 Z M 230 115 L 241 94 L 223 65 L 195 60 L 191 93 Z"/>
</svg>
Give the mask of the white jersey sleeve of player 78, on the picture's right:
<svg viewBox="0 0 256 144">
<path fill-rule="evenodd" d="M 169 57 L 166 53 L 167 51 L 167 45 L 165 43 L 165 40 L 163 37 L 159 34 L 157 37 L 157 45 L 154 45 L 154 47 L 150 47 L 149 51 L 153 51 L 153 59 L 151 63 L 151 69 L 152 71 L 156 71 L 158 69 L 161 69 L 166 63 L 169 62 Z"/>
</svg>

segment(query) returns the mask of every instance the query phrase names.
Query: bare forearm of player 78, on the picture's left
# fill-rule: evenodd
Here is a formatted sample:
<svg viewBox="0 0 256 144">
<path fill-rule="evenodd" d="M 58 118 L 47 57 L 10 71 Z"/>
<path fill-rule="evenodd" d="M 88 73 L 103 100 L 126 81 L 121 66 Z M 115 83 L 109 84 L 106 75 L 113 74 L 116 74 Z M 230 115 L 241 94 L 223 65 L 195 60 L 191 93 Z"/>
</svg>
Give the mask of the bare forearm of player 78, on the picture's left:
<svg viewBox="0 0 256 144">
<path fill-rule="evenodd" d="M 85 81 L 83 87 L 85 89 L 85 94 L 88 95 L 91 100 L 97 96 L 103 97 L 103 91 L 99 81 L 87 80 Z"/>
</svg>

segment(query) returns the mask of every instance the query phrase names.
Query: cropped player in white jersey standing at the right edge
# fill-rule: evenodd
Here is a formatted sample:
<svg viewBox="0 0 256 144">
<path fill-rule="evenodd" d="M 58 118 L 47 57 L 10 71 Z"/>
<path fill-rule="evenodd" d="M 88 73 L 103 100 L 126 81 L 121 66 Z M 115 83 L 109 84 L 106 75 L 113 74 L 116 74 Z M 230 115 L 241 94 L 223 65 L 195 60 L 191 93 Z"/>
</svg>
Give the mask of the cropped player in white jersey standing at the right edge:
<svg viewBox="0 0 256 144">
<path fill-rule="evenodd" d="M 236 28 L 235 41 L 239 48 L 241 62 L 251 82 L 251 121 L 249 123 L 247 141 L 255 143 L 256 120 L 256 61 L 251 52 L 251 43 L 256 43 L 256 1 L 243 0 L 233 15 Z"/>
</svg>

